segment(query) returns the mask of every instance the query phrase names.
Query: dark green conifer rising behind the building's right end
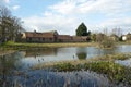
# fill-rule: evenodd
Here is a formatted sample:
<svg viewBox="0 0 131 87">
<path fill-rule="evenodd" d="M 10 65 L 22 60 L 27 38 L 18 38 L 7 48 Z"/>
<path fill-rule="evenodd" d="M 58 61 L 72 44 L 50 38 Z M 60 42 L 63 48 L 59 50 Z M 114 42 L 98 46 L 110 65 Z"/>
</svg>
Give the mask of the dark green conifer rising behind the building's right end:
<svg viewBox="0 0 131 87">
<path fill-rule="evenodd" d="M 76 36 L 87 36 L 87 27 L 81 23 L 76 29 Z"/>
</svg>

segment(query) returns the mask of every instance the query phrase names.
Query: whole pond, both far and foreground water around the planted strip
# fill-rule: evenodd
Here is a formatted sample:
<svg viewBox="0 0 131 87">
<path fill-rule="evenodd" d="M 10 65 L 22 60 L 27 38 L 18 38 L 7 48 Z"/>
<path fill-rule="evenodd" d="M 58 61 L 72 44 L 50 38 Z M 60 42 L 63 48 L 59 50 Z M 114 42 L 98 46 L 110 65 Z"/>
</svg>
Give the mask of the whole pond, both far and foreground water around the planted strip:
<svg viewBox="0 0 131 87">
<path fill-rule="evenodd" d="M 131 52 L 130 45 L 117 46 L 114 49 L 99 49 L 96 47 L 67 47 L 50 49 L 45 48 L 44 50 L 17 51 L 13 54 L 0 58 L 0 85 L 4 87 L 17 87 L 21 85 L 26 87 L 33 87 L 34 85 L 34 87 L 68 87 L 64 85 L 70 83 L 71 87 L 76 87 L 78 85 L 78 87 L 110 87 L 111 84 L 106 76 L 91 71 L 32 71 L 29 67 L 35 64 L 46 62 L 82 59 L 86 60 L 105 54 L 127 52 Z M 116 63 L 130 65 L 131 62 L 129 61 L 131 60 L 117 60 Z M 115 85 L 112 84 L 112 87 L 114 86 Z"/>
</svg>

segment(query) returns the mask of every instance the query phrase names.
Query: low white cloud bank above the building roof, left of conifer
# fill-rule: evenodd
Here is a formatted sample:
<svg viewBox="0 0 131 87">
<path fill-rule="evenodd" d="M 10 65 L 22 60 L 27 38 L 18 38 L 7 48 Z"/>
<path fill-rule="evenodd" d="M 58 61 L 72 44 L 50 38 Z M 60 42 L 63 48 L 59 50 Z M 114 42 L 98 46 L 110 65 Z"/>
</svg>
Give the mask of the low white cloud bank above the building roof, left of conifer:
<svg viewBox="0 0 131 87">
<path fill-rule="evenodd" d="M 40 30 L 40 32 L 46 32 L 46 30 L 58 30 L 60 34 L 70 34 L 73 35 L 72 33 L 75 30 L 76 26 L 76 20 L 73 17 L 66 17 L 66 16 L 60 16 L 60 15 L 52 15 L 50 16 L 31 16 L 27 18 L 24 18 L 24 24 L 31 27 L 29 30 Z"/>
</svg>

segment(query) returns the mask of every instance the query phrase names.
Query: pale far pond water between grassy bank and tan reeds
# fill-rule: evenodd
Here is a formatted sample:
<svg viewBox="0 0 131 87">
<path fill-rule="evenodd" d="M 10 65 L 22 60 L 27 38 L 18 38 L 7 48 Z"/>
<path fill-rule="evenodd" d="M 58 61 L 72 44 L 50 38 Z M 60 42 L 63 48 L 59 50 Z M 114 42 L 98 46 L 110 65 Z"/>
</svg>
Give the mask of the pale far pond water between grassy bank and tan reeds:
<svg viewBox="0 0 131 87">
<path fill-rule="evenodd" d="M 27 69 L 35 64 L 44 62 L 56 62 L 66 60 L 81 60 L 91 59 L 105 54 L 124 53 L 131 52 L 131 46 L 122 45 L 117 46 L 114 49 L 99 49 L 95 47 L 68 47 L 68 48 L 53 48 L 44 50 L 29 50 L 19 51 L 15 55 L 19 55 L 19 60 L 15 65 L 19 69 Z"/>
</svg>

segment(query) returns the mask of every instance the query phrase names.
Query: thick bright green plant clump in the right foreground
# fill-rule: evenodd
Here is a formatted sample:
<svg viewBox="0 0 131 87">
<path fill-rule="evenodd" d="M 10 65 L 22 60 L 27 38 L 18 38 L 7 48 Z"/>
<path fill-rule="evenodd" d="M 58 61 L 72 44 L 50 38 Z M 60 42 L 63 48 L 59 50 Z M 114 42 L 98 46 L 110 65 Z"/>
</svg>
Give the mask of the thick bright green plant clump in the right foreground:
<svg viewBox="0 0 131 87">
<path fill-rule="evenodd" d="M 110 80 L 124 82 L 127 79 L 127 69 L 114 62 L 85 63 L 84 67 L 85 70 L 94 71 L 99 74 L 106 74 Z"/>
</svg>

